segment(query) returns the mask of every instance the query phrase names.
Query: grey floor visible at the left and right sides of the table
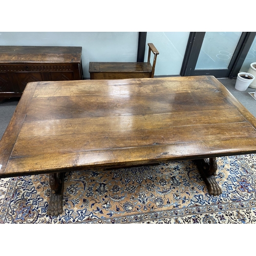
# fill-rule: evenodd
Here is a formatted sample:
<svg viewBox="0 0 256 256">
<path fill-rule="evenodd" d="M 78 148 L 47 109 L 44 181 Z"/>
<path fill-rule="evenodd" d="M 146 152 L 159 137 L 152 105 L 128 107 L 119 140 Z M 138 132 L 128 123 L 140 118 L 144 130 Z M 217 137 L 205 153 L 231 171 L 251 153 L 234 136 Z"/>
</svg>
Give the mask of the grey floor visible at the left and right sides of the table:
<svg viewBox="0 0 256 256">
<path fill-rule="evenodd" d="M 231 80 L 228 78 L 219 78 L 218 80 L 224 84 L 228 91 L 256 117 L 256 100 L 248 93 L 255 92 L 255 89 L 248 88 L 245 92 L 240 92 L 234 89 L 236 79 Z M 0 102 L 0 138 L 2 138 L 11 120 L 11 117 L 16 109 L 16 105 L 18 104 L 18 100 L 18 98 L 11 98 Z"/>
</svg>

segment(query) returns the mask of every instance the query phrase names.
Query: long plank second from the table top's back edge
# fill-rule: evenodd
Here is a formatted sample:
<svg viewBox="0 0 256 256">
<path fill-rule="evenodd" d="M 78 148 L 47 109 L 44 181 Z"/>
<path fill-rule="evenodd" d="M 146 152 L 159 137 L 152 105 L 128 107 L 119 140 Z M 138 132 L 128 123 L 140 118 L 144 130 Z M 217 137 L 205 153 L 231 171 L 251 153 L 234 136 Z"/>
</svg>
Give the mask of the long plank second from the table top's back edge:
<svg viewBox="0 0 256 256">
<path fill-rule="evenodd" d="M 231 105 L 222 97 L 201 97 L 189 93 L 147 94 L 133 97 L 96 95 L 33 98 L 28 111 L 29 120 L 84 118 L 93 116 L 146 115 L 182 111 L 226 109 Z"/>
</svg>

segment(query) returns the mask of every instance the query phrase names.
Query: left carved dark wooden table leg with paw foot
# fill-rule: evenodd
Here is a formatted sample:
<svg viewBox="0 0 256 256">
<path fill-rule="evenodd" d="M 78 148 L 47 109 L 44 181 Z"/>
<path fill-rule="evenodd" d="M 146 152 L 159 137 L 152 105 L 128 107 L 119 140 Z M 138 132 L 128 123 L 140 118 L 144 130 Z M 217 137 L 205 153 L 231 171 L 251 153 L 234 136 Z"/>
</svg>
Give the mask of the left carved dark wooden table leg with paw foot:
<svg viewBox="0 0 256 256">
<path fill-rule="evenodd" d="M 51 187 L 50 202 L 47 214 L 58 216 L 62 214 L 62 196 L 63 196 L 63 177 L 64 173 L 53 173 L 49 175 L 49 183 Z"/>
</svg>

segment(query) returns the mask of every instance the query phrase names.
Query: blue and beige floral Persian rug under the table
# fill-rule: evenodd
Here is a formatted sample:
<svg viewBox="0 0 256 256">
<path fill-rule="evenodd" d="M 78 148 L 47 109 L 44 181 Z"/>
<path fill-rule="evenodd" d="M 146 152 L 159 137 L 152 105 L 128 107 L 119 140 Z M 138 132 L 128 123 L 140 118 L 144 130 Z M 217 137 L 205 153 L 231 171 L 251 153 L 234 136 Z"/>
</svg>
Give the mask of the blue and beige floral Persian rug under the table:
<svg viewBox="0 0 256 256">
<path fill-rule="evenodd" d="M 255 223 L 256 155 L 217 160 L 216 197 L 193 161 L 66 173 L 58 217 L 48 175 L 2 178 L 0 223 Z"/>
</svg>

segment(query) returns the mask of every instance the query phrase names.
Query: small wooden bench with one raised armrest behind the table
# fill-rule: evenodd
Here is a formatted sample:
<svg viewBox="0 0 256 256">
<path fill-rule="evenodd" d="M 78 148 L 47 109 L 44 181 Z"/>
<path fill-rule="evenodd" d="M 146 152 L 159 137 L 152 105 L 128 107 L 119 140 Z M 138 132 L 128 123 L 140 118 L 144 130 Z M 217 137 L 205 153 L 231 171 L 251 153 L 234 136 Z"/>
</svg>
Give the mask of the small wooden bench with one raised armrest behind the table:
<svg viewBox="0 0 256 256">
<path fill-rule="evenodd" d="M 148 43 L 147 62 L 90 62 L 91 79 L 124 79 L 154 77 L 159 52 L 152 43 Z M 154 54 L 151 65 L 151 52 Z"/>
</svg>

